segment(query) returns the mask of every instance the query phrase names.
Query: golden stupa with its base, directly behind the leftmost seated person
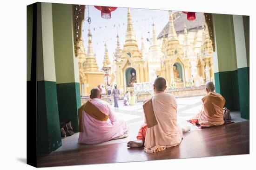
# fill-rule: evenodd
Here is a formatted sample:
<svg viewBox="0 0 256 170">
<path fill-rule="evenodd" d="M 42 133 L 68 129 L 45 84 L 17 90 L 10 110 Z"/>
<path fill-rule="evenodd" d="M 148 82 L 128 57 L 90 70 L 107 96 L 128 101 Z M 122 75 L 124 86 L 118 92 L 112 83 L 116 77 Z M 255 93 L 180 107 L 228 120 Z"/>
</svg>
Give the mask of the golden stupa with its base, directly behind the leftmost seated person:
<svg viewBox="0 0 256 170">
<path fill-rule="evenodd" d="M 89 95 L 92 88 L 96 88 L 98 85 L 104 83 L 105 73 L 99 71 L 99 67 L 96 63 L 95 54 L 92 47 L 92 34 L 88 30 L 88 51 L 84 63 L 82 64 L 82 77 L 81 82 L 83 84 L 84 95 Z"/>
</svg>

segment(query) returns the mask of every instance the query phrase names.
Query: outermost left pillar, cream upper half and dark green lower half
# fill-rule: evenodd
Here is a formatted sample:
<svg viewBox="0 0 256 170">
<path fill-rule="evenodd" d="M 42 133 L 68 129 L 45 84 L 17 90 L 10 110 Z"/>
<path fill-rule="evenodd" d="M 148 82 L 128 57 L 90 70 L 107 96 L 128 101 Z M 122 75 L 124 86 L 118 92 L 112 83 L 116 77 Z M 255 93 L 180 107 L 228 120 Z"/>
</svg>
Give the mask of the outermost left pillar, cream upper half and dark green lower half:
<svg viewBox="0 0 256 170">
<path fill-rule="evenodd" d="M 36 35 L 37 154 L 41 155 L 55 151 L 61 146 L 51 3 L 37 3 Z"/>
</svg>

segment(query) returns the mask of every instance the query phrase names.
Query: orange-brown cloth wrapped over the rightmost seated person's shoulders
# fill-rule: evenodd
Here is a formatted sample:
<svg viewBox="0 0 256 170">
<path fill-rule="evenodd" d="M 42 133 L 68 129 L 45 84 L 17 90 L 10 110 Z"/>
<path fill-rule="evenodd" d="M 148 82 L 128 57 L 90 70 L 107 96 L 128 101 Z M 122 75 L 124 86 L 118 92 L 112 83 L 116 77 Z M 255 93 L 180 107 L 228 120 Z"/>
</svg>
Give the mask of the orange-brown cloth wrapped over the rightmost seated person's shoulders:
<svg viewBox="0 0 256 170">
<path fill-rule="evenodd" d="M 210 92 L 206 96 L 202 98 L 202 102 L 204 104 L 204 107 L 206 108 L 209 116 L 212 116 L 216 114 L 216 109 L 214 108 L 214 105 L 217 105 L 220 108 L 223 108 L 225 105 L 225 99 L 220 94 L 215 94 Z"/>
</svg>

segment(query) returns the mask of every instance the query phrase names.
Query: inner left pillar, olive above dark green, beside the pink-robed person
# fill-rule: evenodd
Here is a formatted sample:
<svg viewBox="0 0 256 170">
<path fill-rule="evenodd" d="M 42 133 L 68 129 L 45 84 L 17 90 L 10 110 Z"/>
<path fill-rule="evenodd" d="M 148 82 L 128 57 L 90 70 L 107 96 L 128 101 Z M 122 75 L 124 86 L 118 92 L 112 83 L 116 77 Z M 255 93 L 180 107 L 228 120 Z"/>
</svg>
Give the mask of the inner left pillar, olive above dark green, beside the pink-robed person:
<svg viewBox="0 0 256 170">
<path fill-rule="evenodd" d="M 54 60 L 60 122 L 78 132 L 81 106 L 78 58 L 74 56 L 73 6 L 53 3 Z"/>
</svg>

